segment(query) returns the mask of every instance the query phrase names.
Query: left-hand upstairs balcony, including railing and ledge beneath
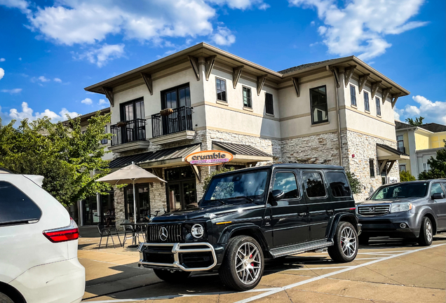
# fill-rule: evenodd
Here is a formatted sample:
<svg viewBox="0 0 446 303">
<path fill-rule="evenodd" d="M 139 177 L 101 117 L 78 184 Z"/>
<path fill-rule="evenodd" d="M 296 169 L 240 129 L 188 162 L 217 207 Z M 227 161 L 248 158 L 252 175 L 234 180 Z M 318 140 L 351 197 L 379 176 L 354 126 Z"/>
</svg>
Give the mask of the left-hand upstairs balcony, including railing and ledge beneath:
<svg viewBox="0 0 446 303">
<path fill-rule="evenodd" d="M 149 141 L 146 140 L 145 119 L 121 121 L 112 125 L 110 130 L 113 136 L 112 146 L 109 149 L 113 152 L 126 152 L 131 149 L 149 147 Z"/>
</svg>

